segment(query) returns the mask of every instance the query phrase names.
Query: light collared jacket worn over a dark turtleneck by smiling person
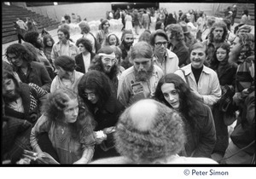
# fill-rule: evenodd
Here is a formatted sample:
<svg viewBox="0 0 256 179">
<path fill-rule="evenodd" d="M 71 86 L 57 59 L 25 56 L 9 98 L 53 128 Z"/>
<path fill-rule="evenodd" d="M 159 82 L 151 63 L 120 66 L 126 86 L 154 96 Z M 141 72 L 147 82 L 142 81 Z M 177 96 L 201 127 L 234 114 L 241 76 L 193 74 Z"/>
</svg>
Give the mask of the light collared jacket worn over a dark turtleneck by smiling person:
<svg viewBox="0 0 256 179">
<path fill-rule="evenodd" d="M 198 84 L 196 84 L 191 64 L 183 66 L 181 69 L 185 72 L 185 76 L 188 78 L 190 89 L 193 90 L 194 93 L 201 95 L 205 104 L 212 106 L 220 99 L 221 89 L 218 76 L 211 68 L 203 66 Z M 181 70 L 177 70 L 175 73 L 183 78 L 184 82 L 186 82 Z"/>
</svg>

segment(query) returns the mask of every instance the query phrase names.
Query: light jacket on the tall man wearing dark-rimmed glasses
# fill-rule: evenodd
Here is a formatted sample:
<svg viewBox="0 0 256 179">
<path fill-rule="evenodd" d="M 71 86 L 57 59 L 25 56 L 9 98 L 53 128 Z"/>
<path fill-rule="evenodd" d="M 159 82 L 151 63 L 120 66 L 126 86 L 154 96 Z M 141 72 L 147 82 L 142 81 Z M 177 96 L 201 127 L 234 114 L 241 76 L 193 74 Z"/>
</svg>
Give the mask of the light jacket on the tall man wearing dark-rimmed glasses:
<svg viewBox="0 0 256 179">
<path fill-rule="evenodd" d="M 165 74 L 176 72 L 178 67 L 178 58 L 172 51 L 166 49 L 165 60 L 160 63 L 156 55 L 153 56 L 154 65 L 159 66 Z"/>
</svg>

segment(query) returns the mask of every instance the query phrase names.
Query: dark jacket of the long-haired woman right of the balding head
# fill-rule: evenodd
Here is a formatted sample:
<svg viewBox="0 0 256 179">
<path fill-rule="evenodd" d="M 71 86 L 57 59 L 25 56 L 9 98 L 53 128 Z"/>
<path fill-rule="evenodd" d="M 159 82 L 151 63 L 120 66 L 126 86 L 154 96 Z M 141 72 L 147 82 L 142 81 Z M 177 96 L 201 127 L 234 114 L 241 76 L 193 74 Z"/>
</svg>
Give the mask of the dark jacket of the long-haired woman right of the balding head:
<svg viewBox="0 0 256 179">
<path fill-rule="evenodd" d="M 199 130 L 193 130 L 188 123 L 186 124 L 187 143 L 185 153 L 181 155 L 211 158 L 216 142 L 216 130 L 210 107 L 202 104 L 197 121 Z"/>
</svg>

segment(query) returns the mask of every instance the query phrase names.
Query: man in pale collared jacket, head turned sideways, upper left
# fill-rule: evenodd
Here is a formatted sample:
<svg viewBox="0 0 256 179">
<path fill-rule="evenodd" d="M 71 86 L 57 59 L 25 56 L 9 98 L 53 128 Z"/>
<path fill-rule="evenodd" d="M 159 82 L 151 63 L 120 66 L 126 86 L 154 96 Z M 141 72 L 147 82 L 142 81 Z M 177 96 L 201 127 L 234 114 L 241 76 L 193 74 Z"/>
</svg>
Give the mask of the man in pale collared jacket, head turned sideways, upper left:
<svg viewBox="0 0 256 179">
<path fill-rule="evenodd" d="M 55 59 L 61 55 L 67 55 L 73 58 L 79 54 L 79 49 L 76 47 L 75 43 L 70 41 L 70 34 L 66 28 L 60 28 L 57 30 L 59 42 L 55 43 L 51 51 L 51 60 Z"/>
</svg>

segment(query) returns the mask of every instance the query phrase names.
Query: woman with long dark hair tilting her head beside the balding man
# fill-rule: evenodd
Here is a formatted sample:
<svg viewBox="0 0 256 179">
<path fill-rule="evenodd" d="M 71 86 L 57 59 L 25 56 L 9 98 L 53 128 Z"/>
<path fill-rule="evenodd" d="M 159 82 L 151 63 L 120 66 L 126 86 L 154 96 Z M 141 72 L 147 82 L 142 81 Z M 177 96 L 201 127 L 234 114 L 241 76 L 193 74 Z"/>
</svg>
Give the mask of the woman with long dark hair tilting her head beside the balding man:
<svg viewBox="0 0 256 179">
<path fill-rule="evenodd" d="M 183 78 L 174 73 L 160 78 L 155 99 L 183 116 L 188 140 L 181 155 L 210 158 L 216 142 L 211 109 L 192 93 Z"/>
</svg>

